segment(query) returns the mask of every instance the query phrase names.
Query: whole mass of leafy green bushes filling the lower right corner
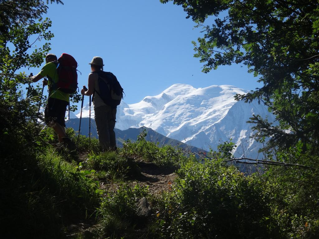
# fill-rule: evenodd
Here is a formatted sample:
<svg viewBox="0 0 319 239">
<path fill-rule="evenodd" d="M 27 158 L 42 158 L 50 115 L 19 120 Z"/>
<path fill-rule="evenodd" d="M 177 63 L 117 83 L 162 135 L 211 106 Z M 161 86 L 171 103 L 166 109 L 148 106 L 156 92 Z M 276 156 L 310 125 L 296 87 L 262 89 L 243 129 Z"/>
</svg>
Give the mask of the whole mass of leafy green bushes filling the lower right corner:
<svg viewBox="0 0 319 239">
<path fill-rule="evenodd" d="M 317 171 L 271 166 L 245 176 L 220 160 L 183 163 L 155 198 L 164 238 L 318 238 Z"/>
</svg>

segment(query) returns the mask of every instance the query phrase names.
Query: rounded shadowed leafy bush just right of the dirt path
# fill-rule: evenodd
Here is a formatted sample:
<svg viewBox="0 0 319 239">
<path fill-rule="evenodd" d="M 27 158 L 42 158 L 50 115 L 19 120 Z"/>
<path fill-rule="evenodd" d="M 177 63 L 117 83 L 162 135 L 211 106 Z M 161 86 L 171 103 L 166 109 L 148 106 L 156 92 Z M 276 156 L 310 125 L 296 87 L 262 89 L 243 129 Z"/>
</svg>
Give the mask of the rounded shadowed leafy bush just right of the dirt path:
<svg viewBox="0 0 319 239">
<path fill-rule="evenodd" d="M 187 162 L 159 202 L 166 238 L 269 238 L 268 198 L 254 176 L 219 162 Z"/>
</svg>

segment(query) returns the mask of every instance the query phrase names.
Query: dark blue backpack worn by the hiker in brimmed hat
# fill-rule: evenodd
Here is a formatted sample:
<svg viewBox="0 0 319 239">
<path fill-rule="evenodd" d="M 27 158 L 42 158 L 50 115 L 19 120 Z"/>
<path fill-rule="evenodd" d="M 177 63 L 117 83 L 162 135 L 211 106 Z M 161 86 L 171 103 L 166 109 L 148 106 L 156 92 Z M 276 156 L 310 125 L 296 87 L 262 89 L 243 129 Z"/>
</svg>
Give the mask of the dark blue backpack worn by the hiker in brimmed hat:
<svg viewBox="0 0 319 239">
<path fill-rule="evenodd" d="M 113 109 L 116 108 L 117 105 L 120 105 L 124 93 L 116 76 L 113 75 L 112 72 L 102 70 L 93 72 L 99 75 L 98 83 L 100 92 L 94 90 L 92 101 L 96 92 L 106 105 L 109 105 Z"/>
</svg>

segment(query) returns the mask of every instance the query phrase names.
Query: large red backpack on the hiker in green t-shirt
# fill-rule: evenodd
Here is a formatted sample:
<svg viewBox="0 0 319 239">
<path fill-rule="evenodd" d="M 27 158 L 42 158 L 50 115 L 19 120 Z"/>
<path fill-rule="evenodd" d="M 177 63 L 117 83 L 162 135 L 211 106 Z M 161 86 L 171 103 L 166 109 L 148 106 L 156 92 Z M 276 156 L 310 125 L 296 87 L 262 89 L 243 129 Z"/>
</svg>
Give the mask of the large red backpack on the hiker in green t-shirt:
<svg viewBox="0 0 319 239">
<path fill-rule="evenodd" d="M 76 62 L 73 56 L 62 53 L 56 66 L 59 80 L 53 85 L 54 89 L 59 89 L 65 93 L 74 93 L 78 88 L 77 67 L 78 62 Z"/>
</svg>

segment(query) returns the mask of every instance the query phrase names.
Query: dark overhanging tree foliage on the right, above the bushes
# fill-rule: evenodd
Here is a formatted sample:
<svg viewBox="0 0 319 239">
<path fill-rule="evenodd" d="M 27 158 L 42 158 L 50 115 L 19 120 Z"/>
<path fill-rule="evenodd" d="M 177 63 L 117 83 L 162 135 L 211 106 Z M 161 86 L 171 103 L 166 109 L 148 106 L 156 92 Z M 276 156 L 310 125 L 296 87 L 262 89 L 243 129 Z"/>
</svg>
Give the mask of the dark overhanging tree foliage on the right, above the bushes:
<svg viewBox="0 0 319 239">
<path fill-rule="evenodd" d="M 318 152 L 319 4 L 314 0 L 161 0 L 181 5 L 204 37 L 194 43 L 203 72 L 220 65 L 244 64 L 263 87 L 237 100 L 262 101 L 278 126 L 254 115 L 257 137 L 271 145 Z M 213 21 L 211 25 L 205 25 Z"/>
</svg>

